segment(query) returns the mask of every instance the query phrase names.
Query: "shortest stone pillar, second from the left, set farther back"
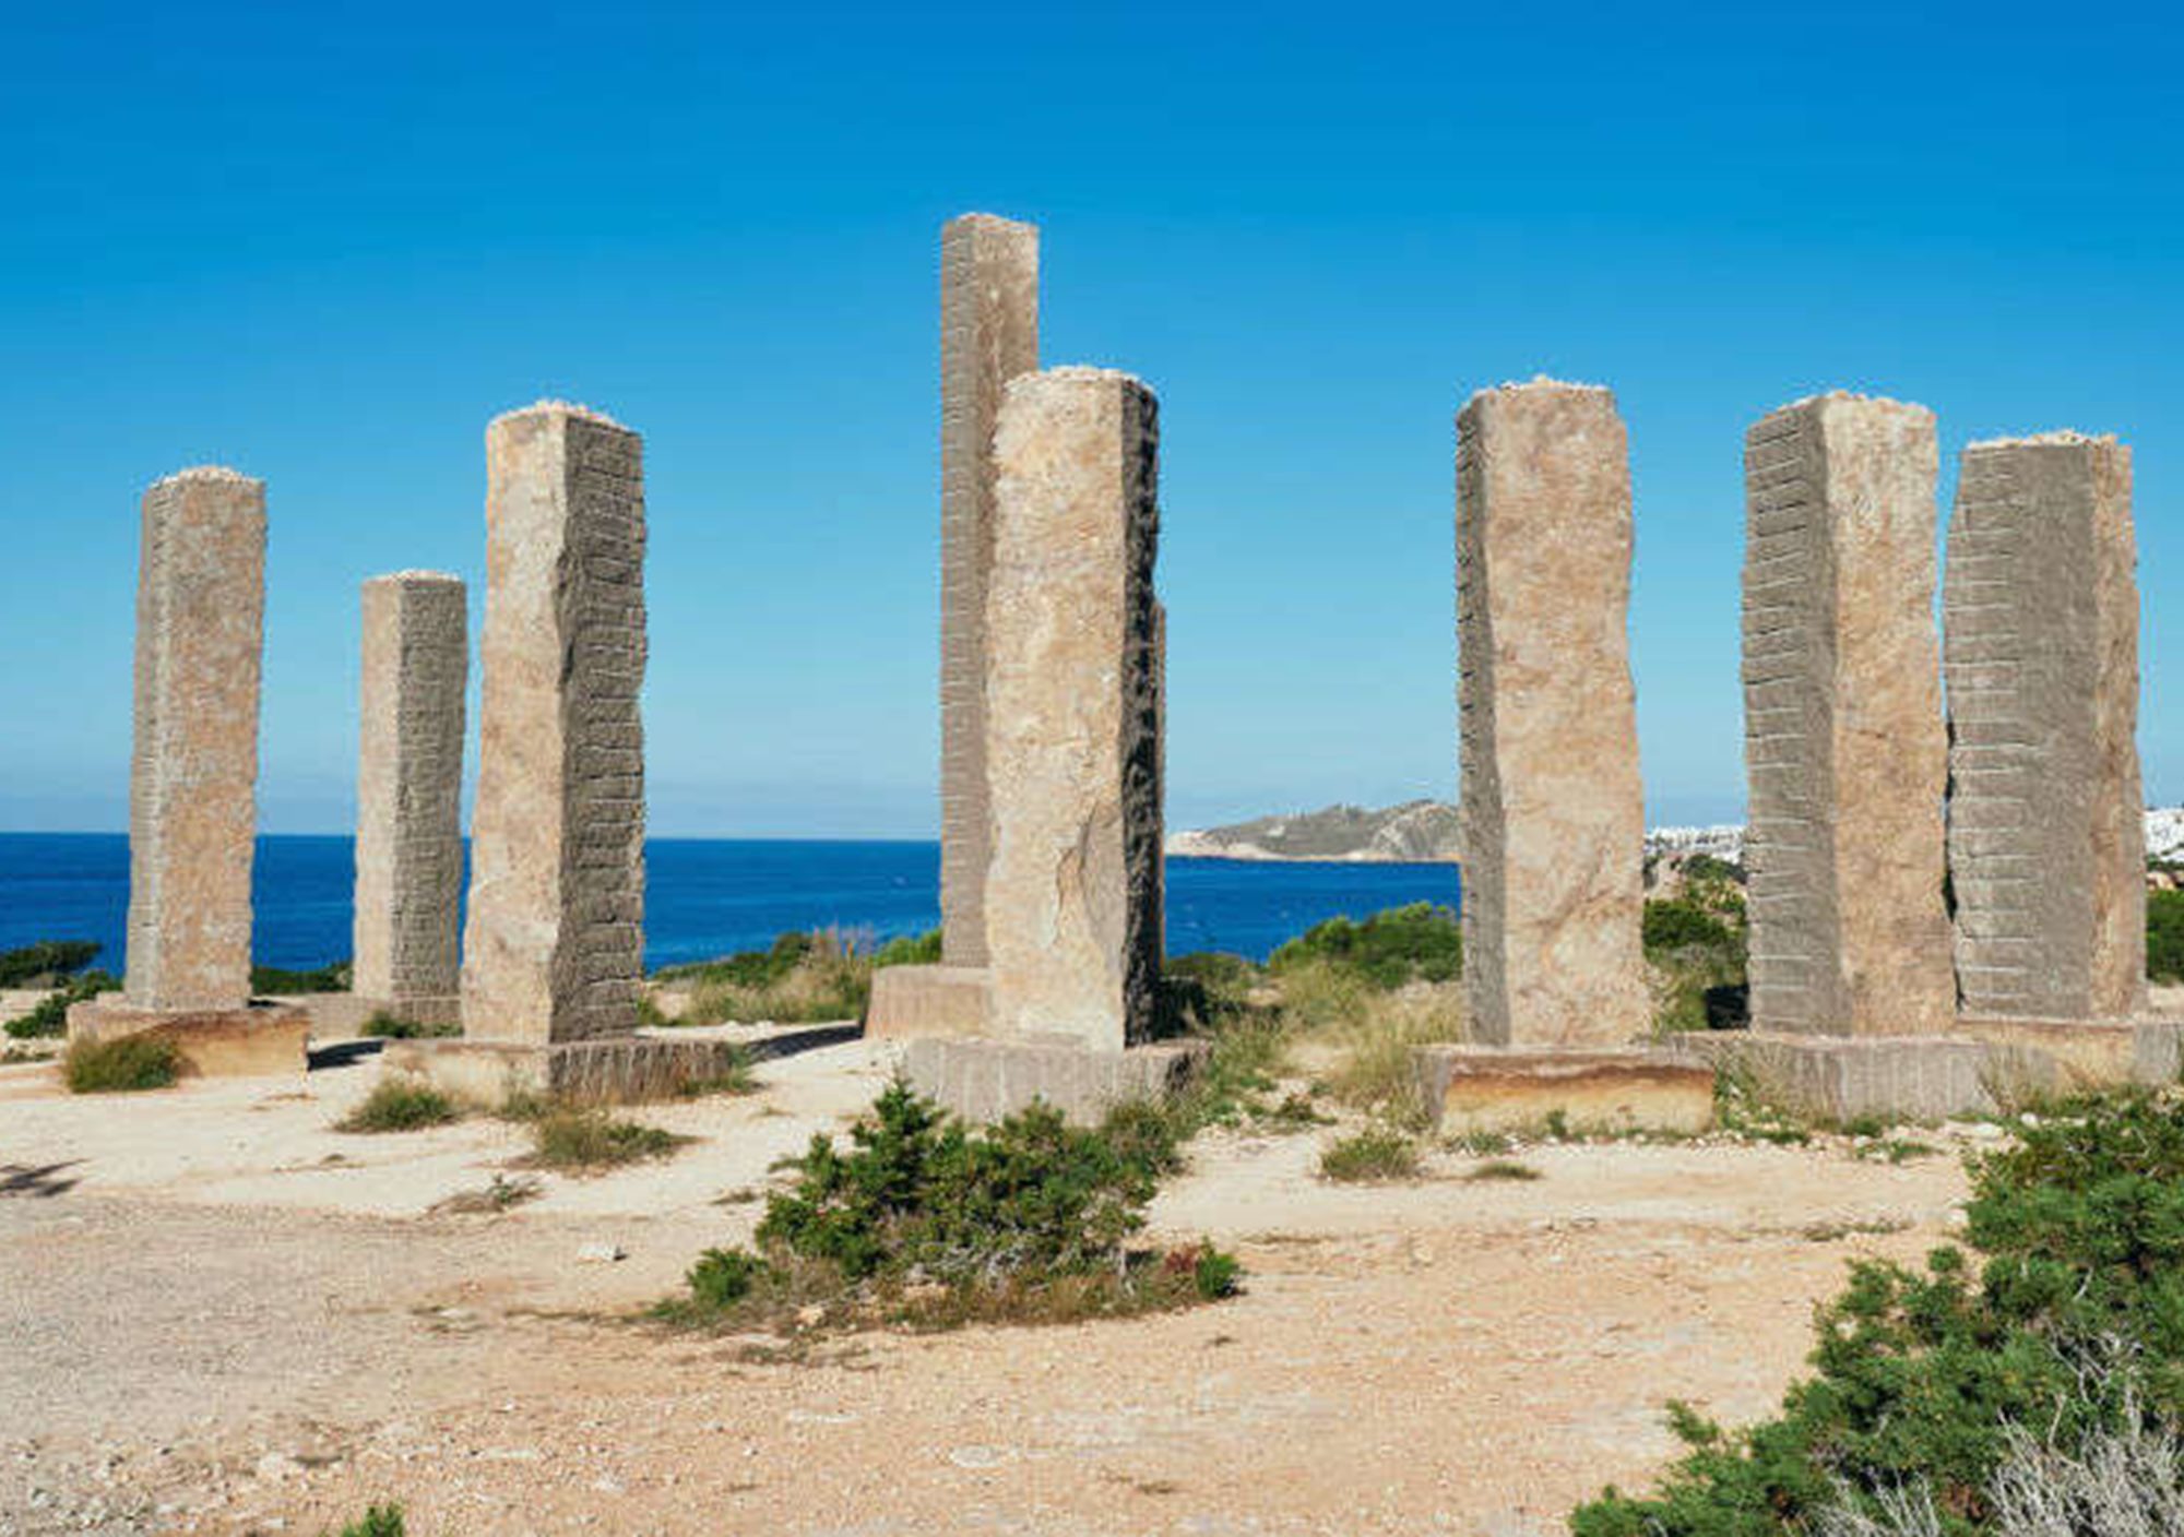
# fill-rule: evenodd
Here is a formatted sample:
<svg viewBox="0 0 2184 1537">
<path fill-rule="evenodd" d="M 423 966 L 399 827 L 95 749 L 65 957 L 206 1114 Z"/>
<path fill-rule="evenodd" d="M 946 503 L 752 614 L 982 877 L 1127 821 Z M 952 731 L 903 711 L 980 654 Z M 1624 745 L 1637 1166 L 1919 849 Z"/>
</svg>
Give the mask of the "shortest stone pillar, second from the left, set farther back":
<svg viewBox="0 0 2184 1537">
<path fill-rule="evenodd" d="M 463 583 L 395 572 L 365 583 L 356 762 L 356 961 L 365 1011 L 454 1024 L 461 991 Z"/>
</svg>

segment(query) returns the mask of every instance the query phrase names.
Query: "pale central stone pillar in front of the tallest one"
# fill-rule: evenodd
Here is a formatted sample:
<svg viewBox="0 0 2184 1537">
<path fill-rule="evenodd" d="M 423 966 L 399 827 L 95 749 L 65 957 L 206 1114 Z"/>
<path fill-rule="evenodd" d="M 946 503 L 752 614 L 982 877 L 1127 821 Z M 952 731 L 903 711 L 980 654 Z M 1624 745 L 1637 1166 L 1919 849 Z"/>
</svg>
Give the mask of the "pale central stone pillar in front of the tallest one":
<svg viewBox="0 0 2184 1537">
<path fill-rule="evenodd" d="M 1153 393 L 1127 373 L 1009 384 L 987 592 L 992 1033 L 1120 1050 L 1160 987 Z"/>
</svg>

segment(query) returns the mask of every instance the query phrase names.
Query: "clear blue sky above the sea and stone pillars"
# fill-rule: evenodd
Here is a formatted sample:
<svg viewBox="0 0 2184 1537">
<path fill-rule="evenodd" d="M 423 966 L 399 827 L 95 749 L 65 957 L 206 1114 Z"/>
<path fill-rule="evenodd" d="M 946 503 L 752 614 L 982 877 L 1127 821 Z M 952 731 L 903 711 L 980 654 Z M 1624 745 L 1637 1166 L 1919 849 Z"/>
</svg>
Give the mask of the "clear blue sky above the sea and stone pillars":
<svg viewBox="0 0 2184 1537">
<path fill-rule="evenodd" d="M 142 487 L 269 482 L 262 819 L 343 830 L 356 585 L 483 572 L 485 421 L 644 432 L 662 834 L 930 836 L 937 231 L 1162 400 L 1171 825 L 1455 793 L 1450 415 L 1612 384 L 1658 821 L 1741 814 L 1738 441 L 1870 389 L 2136 448 L 2184 797 L 2184 22 L 2160 7 L 11 17 L 0 827 L 127 823 Z M 1946 507 L 1946 502 L 1944 502 Z"/>
</svg>

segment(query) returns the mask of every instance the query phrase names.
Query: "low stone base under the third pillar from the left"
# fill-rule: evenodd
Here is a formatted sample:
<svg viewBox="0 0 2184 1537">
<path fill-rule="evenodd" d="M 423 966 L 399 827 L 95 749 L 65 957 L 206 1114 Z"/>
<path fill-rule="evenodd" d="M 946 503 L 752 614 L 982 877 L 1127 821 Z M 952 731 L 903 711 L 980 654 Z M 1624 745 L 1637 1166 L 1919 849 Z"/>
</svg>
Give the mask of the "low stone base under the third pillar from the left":
<svg viewBox="0 0 2184 1537">
<path fill-rule="evenodd" d="M 734 1041 L 616 1035 L 598 1041 L 387 1041 L 380 1061 L 432 1087 L 480 1105 L 539 1096 L 581 1105 L 664 1100 L 692 1083 L 729 1072 L 743 1052 Z"/>
</svg>

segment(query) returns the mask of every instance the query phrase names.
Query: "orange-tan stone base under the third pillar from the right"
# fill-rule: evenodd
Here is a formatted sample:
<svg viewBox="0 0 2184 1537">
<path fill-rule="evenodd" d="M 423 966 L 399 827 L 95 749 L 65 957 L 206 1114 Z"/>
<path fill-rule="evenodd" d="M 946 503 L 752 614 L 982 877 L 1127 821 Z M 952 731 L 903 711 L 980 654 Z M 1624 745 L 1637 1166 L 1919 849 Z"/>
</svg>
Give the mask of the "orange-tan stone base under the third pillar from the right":
<svg viewBox="0 0 2184 1537">
<path fill-rule="evenodd" d="M 1426 1113 L 1448 1133 L 1675 1131 L 1714 1124 L 1714 1070 L 1647 1048 L 1420 1046 Z"/>
</svg>

